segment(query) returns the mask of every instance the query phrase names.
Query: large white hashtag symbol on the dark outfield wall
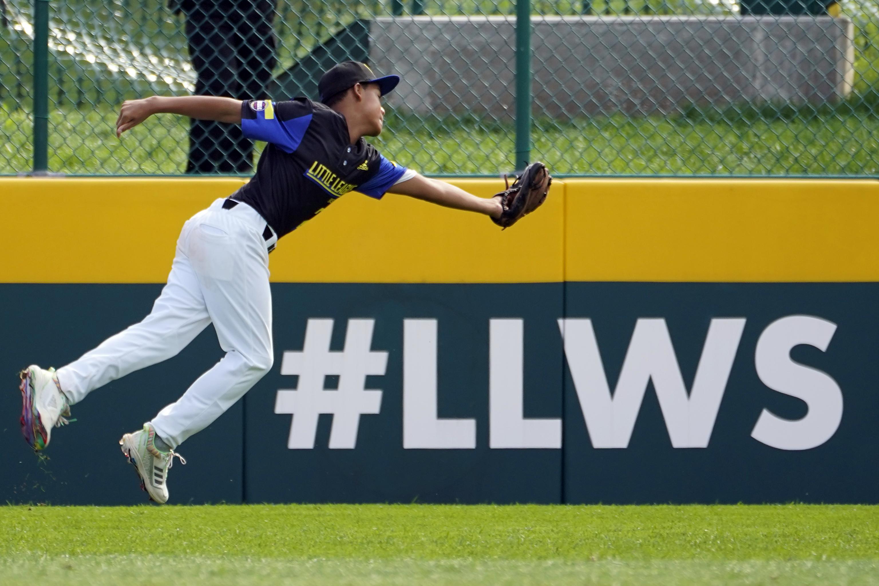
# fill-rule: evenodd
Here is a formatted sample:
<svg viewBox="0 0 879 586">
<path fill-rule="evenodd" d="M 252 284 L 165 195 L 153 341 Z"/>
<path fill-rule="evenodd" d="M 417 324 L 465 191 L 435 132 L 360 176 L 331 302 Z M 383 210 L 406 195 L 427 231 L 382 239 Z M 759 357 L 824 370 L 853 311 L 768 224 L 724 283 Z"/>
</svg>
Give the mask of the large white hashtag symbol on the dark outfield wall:
<svg viewBox="0 0 879 586">
<path fill-rule="evenodd" d="M 275 413 L 293 415 L 287 447 L 315 447 L 317 416 L 331 414 L 331 449 L 353 449 L 361 415 L 378 415 L 381 390 L 367 389 L 367 375 L 383 375 L 388 352 L 370 351 L 375 320 L 348 320 L 345 350 L 330 351 L 332 320 L 309 319 L 301 352 L 284 352 L 281 374 L 298 374 L 295 390 L 280 389 Z M 338 375 L 338 390 L 326 390 L 324 380 Z"/>
</svg>

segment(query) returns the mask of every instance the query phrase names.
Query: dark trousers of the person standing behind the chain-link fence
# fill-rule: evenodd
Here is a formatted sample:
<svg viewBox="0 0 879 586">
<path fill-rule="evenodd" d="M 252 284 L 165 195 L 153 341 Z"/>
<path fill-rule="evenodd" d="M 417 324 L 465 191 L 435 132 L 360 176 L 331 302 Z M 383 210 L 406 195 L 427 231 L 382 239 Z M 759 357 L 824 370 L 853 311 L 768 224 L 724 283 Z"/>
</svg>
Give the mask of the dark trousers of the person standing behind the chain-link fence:
<svg viewBox="0 0 879 586">
<path fill-rule="evenodd" d="M 275 66 L 275 3 L 200 3 L 186 12 L 186 39 L 197 79 L 195 94 L 265 99 Z M 223 10 L 222 4 L 234 4 Z M 223 8 L 229 8 L 228 6 Z M 192 119 L 187 173 L 249 173 L 253 142 L 241 127 Z"/>
</svg>

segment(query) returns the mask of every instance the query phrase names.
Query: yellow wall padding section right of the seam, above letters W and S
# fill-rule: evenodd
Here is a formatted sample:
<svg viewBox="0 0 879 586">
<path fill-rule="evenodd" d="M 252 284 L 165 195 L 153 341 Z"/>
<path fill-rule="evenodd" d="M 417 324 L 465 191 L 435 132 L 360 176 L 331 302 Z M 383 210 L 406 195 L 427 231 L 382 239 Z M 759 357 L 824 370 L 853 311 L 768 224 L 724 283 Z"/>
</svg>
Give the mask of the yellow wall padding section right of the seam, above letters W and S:
<svg viewBox="0 0 879 586">
<path fill-rule="evenodd" d="M 879 280 L 879 181 L 568 179 L 570 281 Z"/>
</svg>

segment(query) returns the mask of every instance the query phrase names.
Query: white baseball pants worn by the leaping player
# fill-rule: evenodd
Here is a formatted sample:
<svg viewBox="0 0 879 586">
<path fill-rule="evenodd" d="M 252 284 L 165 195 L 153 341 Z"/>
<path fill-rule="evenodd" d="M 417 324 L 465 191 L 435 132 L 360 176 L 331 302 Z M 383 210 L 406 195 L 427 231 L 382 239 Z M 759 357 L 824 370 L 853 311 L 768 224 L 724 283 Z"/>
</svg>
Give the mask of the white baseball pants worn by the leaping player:
<svg viewBox="0 0 879 586">
<path fill-rule="evenodd" d="M 172 447 L 206 428 L 272 368 L 272 293 L 265 220 L 217 199 L 184 224 L 168 283 L 152 312 L 58 370 L 70 403 L 183 350 L 214 323 L 226 355 L 152 420 Z"/>
</svg>

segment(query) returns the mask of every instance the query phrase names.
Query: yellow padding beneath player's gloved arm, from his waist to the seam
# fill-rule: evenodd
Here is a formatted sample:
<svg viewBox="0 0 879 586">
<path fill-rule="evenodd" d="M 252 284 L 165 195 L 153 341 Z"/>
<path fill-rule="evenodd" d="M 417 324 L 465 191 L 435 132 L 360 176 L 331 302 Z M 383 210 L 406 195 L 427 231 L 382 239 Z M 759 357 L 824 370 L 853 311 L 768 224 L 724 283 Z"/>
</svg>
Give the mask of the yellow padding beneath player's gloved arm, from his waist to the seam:
<svg viewBox="0 0 879 586">
<path fill-rule="evenodd" d="M 450 183 L 480 197 L 492 179 Z M 501 231 L 482 214 L 406 196 L 353 194 L 297 228 L 272 252 L 272 280 L 341 283 L 543 283 L 563 279 L 563 184 L 541 213 Z"/>
</svg>

